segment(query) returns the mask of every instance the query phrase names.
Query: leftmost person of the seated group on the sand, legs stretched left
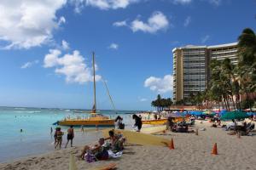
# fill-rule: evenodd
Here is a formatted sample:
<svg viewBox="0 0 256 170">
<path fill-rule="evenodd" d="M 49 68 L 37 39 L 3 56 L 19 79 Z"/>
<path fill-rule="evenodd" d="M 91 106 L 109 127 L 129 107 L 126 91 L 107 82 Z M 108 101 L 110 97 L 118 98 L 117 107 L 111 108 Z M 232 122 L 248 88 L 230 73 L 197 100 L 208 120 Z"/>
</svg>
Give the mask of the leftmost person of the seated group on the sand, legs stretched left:
<svg viewBox="0 0 256 170">
<path fill-rule="evenodd" d="M 108 159 L 108 150 L 106 147 L 103 146 L 105 143 L 105 139 L 101 138 L 98 141 L 98 144 L 95 144 L 93 147 L 89 145 L 85 145 L 82 153 L 79 157 L 83 160 L 89 161 L 89 155 L 92 154 L 96 158 L 96 160 L 107 160 Z M 87 157 L 86 157 L 87 156 Z M 96 161 L 93 160 L 93 161 Z"/>
</svg>

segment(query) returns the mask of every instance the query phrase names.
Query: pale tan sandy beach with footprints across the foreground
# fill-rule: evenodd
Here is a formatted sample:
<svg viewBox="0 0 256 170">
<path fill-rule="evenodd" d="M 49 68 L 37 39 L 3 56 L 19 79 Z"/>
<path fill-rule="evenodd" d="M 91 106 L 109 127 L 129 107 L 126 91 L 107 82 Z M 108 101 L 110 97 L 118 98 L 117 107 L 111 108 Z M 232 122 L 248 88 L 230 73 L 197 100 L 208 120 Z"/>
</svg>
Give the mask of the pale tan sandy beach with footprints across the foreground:
<svg viewBox="0 0 256 170">
<path fill-rule="evenodd" d="M 118 159 L 88 163 L 79 160 L 82 146 L 55 150 L 44 155 L 30 156 L 16 161 L 0 164 L 0 169 L 67 169 L 70 154 L 75 155 L 78 169 L 92 169 L 111 162 L 117 164 L 117 169 L 255 169 L 256 167 L 256 135 L 229 135 L 221 128 L 210 127 L 208 122 L 196 122 L 199 130 L 195 133 L 166 133 L 159 136 L 173 139 L 175 150 L 167 147 L 140 146 L 128 144 L 124 154 Z M 213 144 L 218 144 L 218 155 L 212 156 Z"/>
</svg>

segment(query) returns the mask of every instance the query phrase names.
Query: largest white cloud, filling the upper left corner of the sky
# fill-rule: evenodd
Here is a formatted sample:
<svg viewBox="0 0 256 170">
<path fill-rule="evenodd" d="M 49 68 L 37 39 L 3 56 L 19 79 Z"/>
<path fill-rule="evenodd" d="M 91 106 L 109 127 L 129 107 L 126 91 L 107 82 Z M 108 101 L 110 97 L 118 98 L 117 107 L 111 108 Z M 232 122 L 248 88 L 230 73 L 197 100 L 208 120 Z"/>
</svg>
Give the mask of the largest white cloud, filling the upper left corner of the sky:
<svg viewBox="0 0 256 170">
<path fill-rule="evenodd" d="M 0 3 L 0 41 L 9 48 L 32 48 L 51 41 L 52 31 L 65 18 L 56 17 L 56 11 L 67 0 L 12 0 Z"/>
</svg>

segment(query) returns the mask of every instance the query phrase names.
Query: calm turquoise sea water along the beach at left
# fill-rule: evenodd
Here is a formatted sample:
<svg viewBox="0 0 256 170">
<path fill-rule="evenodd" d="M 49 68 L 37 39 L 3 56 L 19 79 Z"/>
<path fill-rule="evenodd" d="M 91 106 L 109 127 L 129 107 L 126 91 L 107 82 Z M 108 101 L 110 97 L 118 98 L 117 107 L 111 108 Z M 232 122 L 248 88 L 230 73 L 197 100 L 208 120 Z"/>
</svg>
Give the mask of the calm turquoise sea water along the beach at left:
<svg viewBox="0 0 256 170">
<path fill-rule="evenodd" d="M 116 114 L 114 111 L 100 111 L 103 115 L 111 118 L 115 118 L 117 115 L 123 116 L 125 127 L 128 128 L 133 122 L 131 113 L 135 112 L 118 111 Z M 86 117 L 88 114 L 61 109 L 0 107 L 0 162 L 54 150 L 54 139 L 50 134 L 50 127 L 54 128 L 52 123 L 63 119 L 65 116 Z M 20 133 L 20 129 L 23 130 L 22 133 Z M 67 127 L 61 127 L 61 129 L 63 132 L 67 132 Z M 77 128 L 74 145 L 91 143 L 100 136 L 100 132 L 80 133 L 79 128 Z M 63 143 L 66 143 L 66 135 L 64 135 Z"/>
</svg>

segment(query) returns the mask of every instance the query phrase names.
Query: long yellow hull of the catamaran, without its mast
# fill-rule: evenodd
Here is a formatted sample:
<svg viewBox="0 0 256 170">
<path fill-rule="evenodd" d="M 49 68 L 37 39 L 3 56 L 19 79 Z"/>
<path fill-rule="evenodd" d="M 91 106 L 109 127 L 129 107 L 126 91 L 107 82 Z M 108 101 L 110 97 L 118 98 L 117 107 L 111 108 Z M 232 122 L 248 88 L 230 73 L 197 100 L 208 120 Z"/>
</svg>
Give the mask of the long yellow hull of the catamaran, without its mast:
<svg viewBox="0 0 256 170">
<path fill-rule="evenodd" d="M 84 126 L 84 127 L 114 127 L 114 120 L 103 121 L 83 121 L 83 120 L 64 120 L 58 122 L 60 126 Z"/>
</svg>

